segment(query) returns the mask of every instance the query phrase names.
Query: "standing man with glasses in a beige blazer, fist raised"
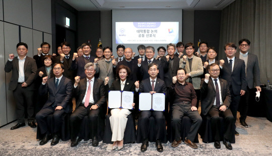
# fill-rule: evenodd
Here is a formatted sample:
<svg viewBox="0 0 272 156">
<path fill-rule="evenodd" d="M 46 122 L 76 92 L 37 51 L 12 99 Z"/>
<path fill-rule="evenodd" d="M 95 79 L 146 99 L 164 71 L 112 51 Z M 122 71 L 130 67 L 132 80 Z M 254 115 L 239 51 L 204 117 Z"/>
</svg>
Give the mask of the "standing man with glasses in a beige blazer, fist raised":
<svg viewBox="0 0 272 156">
<path fill-rule="evenodd" d="M 197 97 L 196 108 L 198 108 L 200 99 L 200 76 L 203 74 L 203 65 L 201 58 L 193 55 L 194 45 L 192 43 L 185 44 L 186 55 L 179 61 L 179 67 L 186 70 L 186 82 L 193 85 Z"/>
</svg>

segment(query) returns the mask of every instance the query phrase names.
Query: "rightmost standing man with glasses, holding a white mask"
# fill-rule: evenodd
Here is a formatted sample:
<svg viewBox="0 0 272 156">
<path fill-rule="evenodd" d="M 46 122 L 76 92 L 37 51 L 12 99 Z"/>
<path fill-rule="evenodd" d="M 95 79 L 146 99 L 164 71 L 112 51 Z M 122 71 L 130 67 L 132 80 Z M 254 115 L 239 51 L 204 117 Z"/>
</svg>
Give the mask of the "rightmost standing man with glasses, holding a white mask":
<svg viewBox="0 0 272 156">
<path fill-rule="evenodd" d="M 250 41 L 248 39 L 241 39 L 239 41 L 240 53 L 236 53 L 235 56 L 245 61 L 245 72 L 246 72 L 246 82 L 247 87 L 245 90 L 245 95 L 241 97 L 239 104 L 240 110 L 240 123 L 244 127 L 248 127 L 245 122 L 247 110 L 248 110 L 248 100 L 249 100 L 249 91 L 253 90 L 254 92 L 261 92 L 260 88 L 260 69 L 258 63 L 258 57 L 252 53 L 248 53 L 250 48 Z M 256 89 L 255 89 L 256 88 Z"/>
</svg>

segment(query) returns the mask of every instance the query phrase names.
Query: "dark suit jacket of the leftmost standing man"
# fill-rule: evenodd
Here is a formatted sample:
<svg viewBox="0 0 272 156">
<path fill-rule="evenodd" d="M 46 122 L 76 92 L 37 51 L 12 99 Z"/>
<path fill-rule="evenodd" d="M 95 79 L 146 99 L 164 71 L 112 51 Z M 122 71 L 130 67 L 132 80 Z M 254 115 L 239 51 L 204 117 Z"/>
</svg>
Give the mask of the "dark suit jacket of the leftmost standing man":
<svg viewBox="0 0 272 156">
<path fill-rule="evenodd" d="M 10 81 L 9 90 L 14 91 L 18 85 L 19 79 L 19 60 L 18 57 L 14 57 L 12 61 L 7 61 L 5 65 L 5 71 L 12 71 L 12 77 Z M 34 79 L 37 71 L 37 65 L 35 59 L 26 56 L 25 64 L 24 64 L 24 73 L 25 73 L 25 83 L 28 85 L 26 89 L 28 91 L 35 90 Z"/>
</svg>

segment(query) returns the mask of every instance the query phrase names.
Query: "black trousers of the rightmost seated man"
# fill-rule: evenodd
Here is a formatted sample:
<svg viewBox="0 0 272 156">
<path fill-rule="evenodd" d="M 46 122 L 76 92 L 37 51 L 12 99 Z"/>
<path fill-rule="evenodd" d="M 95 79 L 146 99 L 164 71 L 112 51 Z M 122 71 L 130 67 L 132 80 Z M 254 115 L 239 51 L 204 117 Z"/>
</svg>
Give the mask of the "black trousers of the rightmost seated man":
<svg viewBox="0 0 272 156">
<path fill-rule="evenodd" d="M 220 117 L 224 117 L 224 139 L 231 140 L 234 132 L 234 117 L 230 109 L 226 109 L 226 111 L 222 112 L 217 106 L 213 106 L 208 114 L 211 116 L 211 127 L 213 134 L 215 134 L 215 141 L 220 141 Z"/>
</svg>

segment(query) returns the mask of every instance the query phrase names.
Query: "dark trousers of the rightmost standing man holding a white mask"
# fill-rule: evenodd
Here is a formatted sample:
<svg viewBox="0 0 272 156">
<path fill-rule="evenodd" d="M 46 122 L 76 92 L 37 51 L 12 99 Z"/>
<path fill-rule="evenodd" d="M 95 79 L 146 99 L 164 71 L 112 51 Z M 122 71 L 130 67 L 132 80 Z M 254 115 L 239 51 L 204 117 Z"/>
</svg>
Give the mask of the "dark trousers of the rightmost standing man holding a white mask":
<svg viewBox="0 0 272 156">
<path fill-rule="evenodd" d="M 239 110 L 240 110 L 240 121 L 245 121 L 248 111 L 248 101 L 250 96 L 250 91 L 254 90 L 256 92 L 256 89 L 249 89 L 248 86 L 245 90 L 245 95 L 241 96 L 240 104 L 239 104 Z"/>
</svg>

